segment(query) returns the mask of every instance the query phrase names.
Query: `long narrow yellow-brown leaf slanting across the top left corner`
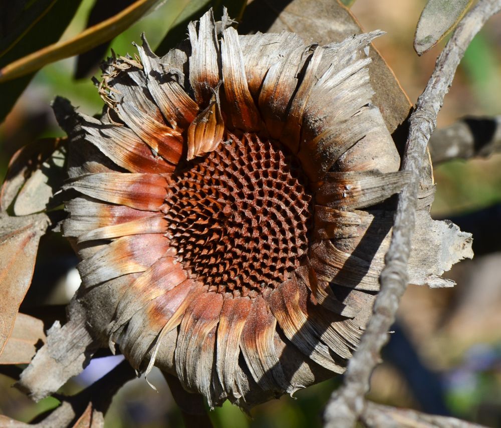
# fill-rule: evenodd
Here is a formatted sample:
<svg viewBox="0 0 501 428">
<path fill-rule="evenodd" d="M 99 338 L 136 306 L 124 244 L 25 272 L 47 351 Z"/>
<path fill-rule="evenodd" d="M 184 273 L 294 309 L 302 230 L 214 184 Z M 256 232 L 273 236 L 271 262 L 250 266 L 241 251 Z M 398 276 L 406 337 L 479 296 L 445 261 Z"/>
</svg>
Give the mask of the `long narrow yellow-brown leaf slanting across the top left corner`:
<svg viewBox="0 0 501 428">
<path fill-rule="evenodd" d="M 43 48 L 0 70 L 0 82 L 32 73 L 47 64 L 86 52 L 107 40 L 113 39 L 139 21 L 161 0 L 137 0 L 114 17 L 103 21 L 79 35 Z"/>
</svg>

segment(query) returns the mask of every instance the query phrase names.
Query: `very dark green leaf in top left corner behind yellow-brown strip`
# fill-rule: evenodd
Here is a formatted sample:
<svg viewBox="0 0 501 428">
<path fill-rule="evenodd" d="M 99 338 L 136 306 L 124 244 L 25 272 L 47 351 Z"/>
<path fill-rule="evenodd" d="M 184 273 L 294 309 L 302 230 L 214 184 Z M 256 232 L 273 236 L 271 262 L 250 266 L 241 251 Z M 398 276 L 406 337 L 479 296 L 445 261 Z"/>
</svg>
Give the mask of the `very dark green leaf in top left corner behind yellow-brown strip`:
<svg viewBox="0 0 501 428">
<path fill-rule="evenodd" d="M 80 3 L 81 0 L 71 2 L 59 0 L 56 2 L 9 52 L 0 57 L 0 67 L 4 67 L 18 58 L 57 42 L 75 16 Z M 31 73 L 8 83 L 0 83 L 0 93 L 2 93 L 0 123 L 12 110 L 33 76 L 34 73 Z"/>
</svg>

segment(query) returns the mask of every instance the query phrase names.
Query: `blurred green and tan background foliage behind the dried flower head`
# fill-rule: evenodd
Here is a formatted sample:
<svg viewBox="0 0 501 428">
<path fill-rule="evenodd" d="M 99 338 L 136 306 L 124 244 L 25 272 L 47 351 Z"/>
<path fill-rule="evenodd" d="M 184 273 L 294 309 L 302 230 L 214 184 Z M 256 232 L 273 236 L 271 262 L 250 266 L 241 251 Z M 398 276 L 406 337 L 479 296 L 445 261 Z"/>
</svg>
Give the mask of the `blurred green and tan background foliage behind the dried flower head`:
<svg viewBox="0 0 501 428">
<path fill-rule="evenodd" d="M 70 25 L 62 34 L 62 40 L 72 38 L 85 29 L 95 1 L 56 3 L 72 5 L 73 11 L 70 8 L 60 13 L 68 21 L 76 10 Z M 226 3 L 233 3 L 231 17 L 240 16 L 242 2 Z M 418 57 L 413 50 L 416 23 L 426 2 L 346 0 L 344 3 L 353 4 L 351 11 L 364 30 L 380 28 L 387 32 L 384 37 L 376 39 L 375 46 L 394 70 L 411 102 L 415 103 L 445 43 L 440 42 L 422 57 Z M 135 49 L 131 42 L 140 41 L 142 32 L 145 32 L 152 48 L 159 47 L 159 52 L 166 52 L 175 41 L 184 38 L 190 16 L 201 15 L 209 6 L 221 8 L 221 2 L 208 0 L 191 2 L 188 8 L 183 9 L 186 4 L 186 0 L 169 0 L 114 38 L 108 47 L 102 48 L 103 52 L 106 49 L 103 56 L 111 55 L 111 49 L 119 55 L 133 55 Z M 245 14 L 241 19 L 245 20 Z M 66 25 L 60 27 L 61 30 L 58 27 L 54 32 L 62 33 Z M 165 38 L 169 28 L 170 39 Z M 500 47 L 501 17 L 495 16 L 468 48 L 438 115 L 438 127 L 447 126 L 466 115 L 501 114 Z M 8 53 L 0 57 L 0 66 L 13 58 L 8 55 L 19 57 L 26 53 Z M 86 77 L 76 80 L 76 73 Z M 70 58 L 44 67 L 33 77 L 0 125 L 0 178 L 5 175 L 9 159 L 20 147 L 37 138 L 64 135 L 50 109 L 50 102 L 55 95 L 69 98 L 73 105 L 79 106 L 87 114 L 94 115 L 101 111 L 102 100 L 90 80 L 92 75 L 100 78 L 97 67 L 86 69 L 77 65 L 76 58 Z M 0 84 L 0 89 L 16 91 L 16 83 L 13 82 Z M 9 101 L 8 95 L 6 103 Z M 437 192 L 432 215 L 435 218 L 461 216 L 501 202 L 499 154 L 488 159 L 444 163 L 435 168 L 434 173 Z M 497 225 L 494 227 L 497 228 Z M 25 309 L 35 302 L 68 302 L 71 297 L 68 287 L 71 288 L 72 280 L 71 271 L 70 274 L 67 271 L 68 267 L 76 263 L 68 254 L 68 245 L 64 240 L 52 237 L 42 241 L 34 276 L 36 286 L 32 286 L 25 299 Z M 62 266 L 60 271 L 53 268 L 55 255 Z M 396 332 L 385 350 L 385 362 L 373 374 L 370 399 L 435 413 L 449 413 L 487 426 L 501 427 L 500 265 L 501 256 L 493 253 L 456 265 L 448 275 L 457 282 L 454 289 L 409 287 L 399 311 Z M 48 284 L 56 284 L 50 286 L 50 293 L 46 292 Z M 22 312 L 24 308 L 21 308 Z M 119 361 L 120 357 L 93 360 L 84 373 L 65 385 L 63 392 L 81 390 Z M 151 389 L 143 378 L 129 382 L 114 398 L 106 416 L 106 426 L 182 426 L 181 415 L 161 374 L 155 372 L 150 376 L 159 393 Z M 298 391 L 295 394 L 297 399 L 286 396 L 258 406 L 252 411 L 254 419 L 229 402 L 211 411 L 210 417 L 214 426 L 221 428 L 322 426 L 322 407 L 340 382 L 341 379 L 336 378 Z M 12 379 L 0 375 L 1 413 L 29 421 L 58 403 L 55 398 L 47 398 L 35 404 L 11 388 L 11 384 Z M 437 406 L 433 407 L 430 399 L 435 400 Z"/>
</svg>

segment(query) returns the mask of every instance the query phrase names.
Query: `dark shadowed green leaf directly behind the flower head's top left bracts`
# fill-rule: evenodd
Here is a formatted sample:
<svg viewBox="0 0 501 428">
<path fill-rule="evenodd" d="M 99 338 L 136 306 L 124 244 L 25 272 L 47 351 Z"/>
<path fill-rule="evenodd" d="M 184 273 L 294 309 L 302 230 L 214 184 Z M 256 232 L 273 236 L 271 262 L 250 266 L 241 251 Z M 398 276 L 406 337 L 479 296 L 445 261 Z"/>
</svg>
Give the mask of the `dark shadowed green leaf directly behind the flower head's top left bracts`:
<svg viewBox="0 0 501 428">
<path fill-rule="evenodd" d="M 160 42 L 155 53 L 159 56 L 165 55 L 170 49 L 174 48 L 179 42 L 186 39 L 186 28 L 190 21 L 198 20 L 210 8 L 214 10 L 215 19 L 222 16 L 223 6 L 228 9 L 228 16 L 234 20 L 239 20 L 245 10 L 245 0 L 233 0 L 231 2 L 222 2 L 222 0 L 191 0 L 177 19 L 172 23 L 164 39 Z"/>
</svg>

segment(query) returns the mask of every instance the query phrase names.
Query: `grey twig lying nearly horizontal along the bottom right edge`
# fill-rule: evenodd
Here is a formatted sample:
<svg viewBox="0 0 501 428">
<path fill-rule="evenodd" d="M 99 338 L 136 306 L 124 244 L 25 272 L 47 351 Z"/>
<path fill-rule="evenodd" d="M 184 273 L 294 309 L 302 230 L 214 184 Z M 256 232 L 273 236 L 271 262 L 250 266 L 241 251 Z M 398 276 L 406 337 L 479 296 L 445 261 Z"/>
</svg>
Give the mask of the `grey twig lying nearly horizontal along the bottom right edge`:
<svg viewBox="0 0 501 428">
<path fill-rule="evenodd" d="M 367 401 L 361 422 L 367 428 L 485 428 L 455 417 L 437 416 Z"/>
</svg>

